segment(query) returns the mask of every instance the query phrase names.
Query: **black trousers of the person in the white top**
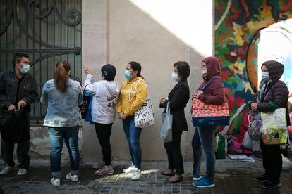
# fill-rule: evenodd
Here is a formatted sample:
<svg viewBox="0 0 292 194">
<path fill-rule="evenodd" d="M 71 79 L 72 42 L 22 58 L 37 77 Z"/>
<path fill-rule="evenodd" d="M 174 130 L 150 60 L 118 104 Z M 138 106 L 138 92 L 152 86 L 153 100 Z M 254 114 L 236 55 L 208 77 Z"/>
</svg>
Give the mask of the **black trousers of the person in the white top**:
<svg viewBox="0 0 292 194">
<path fill-rule="evenodd" d="M 113 124 L 95 123 L 95 132 L 102 147 L 102 160 L 107 166 L 111 165 L 111 126 Z"/>
</svg>

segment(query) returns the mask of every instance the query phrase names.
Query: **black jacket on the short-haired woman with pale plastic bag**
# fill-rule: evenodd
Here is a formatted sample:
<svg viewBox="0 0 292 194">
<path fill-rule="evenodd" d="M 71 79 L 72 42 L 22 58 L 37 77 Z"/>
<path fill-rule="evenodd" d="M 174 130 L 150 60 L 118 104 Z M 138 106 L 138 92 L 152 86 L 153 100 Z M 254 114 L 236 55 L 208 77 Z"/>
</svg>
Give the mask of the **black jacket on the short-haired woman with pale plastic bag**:
<svg viewBox="0 0 292 194">
<path fill-rule="evenodd" d="M 190 99 L 190 89 L 186 79 L 181 80 L 174 86 L 168 96 L 169 100 L 164 101 L 160 108 L 165 108 L 168 102 L 173 116 L 172 129 L 175 131 L 188 131 L 188 123 L 185 119 L 185 106 Z"/>
</svg>

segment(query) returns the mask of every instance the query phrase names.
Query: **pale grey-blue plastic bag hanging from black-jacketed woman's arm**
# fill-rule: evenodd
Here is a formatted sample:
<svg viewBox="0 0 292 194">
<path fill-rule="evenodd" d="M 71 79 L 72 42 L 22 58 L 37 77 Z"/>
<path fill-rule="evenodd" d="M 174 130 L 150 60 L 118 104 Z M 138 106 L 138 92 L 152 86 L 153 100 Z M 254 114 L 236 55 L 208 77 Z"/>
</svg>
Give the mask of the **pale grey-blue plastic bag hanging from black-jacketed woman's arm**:
<svg viewBox="0 0 292 194">
<path fill-rule="evenodd" d="M 159 139 L 163 142 L 172 141 L 172 119 L 173 115 L 170 113 L 169 102 L 166 105 L 166 112 L 162 113 L 162 129 L 160 130 Z"/>
</svg>

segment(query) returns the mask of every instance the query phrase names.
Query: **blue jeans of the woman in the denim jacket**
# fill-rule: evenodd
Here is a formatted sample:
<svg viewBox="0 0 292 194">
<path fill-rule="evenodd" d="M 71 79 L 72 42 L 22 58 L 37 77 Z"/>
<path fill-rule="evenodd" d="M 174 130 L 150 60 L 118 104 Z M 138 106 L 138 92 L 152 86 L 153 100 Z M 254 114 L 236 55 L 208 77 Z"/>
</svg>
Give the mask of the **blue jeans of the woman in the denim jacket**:
<svg viewBox="0 0 292 194">
<path fill-rule="evenodd" d="M 49 141 L 51 143 L 51 175 L 61 175 L 61 153 L 65 140 L 70 155 L 71 174 L 78 174 L 79 149 L 78 149 L 79 126 L 75 127 L 49 127 Z"/>
</svg>

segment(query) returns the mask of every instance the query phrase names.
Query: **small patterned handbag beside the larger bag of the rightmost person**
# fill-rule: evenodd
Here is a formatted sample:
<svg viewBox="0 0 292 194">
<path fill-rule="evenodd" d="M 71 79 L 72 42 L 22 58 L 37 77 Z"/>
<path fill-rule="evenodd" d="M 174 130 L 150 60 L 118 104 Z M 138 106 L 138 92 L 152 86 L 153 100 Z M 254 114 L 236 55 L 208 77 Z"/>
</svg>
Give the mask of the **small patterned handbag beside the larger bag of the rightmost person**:
<svg viewBox="0 0 292 194">
<path fill-rule="evenodd" d="M 262 119 L 260 112 L 248 113 L 248 135 L 251 139 L 258 141 L 262 139 Z"/>
</svg>

